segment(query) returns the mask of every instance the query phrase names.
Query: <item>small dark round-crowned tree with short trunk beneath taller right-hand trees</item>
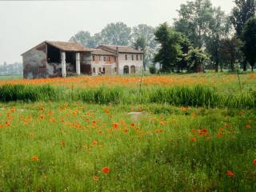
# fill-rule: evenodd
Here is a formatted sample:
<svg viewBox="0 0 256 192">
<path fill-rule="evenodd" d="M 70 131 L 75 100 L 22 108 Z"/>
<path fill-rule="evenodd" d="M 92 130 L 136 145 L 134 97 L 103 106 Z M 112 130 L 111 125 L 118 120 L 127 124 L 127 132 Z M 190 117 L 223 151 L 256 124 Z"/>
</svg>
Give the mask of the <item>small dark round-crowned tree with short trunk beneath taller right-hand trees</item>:
<svg viewBox="0 0 256 192">
<path fill-rule="evenodd" d="M 220 44 L 220 59 L 223 63 L 230 64 L 230 70 L 234 71 L 235 62 L 242 60 L 242 42 L 235 36 L 222 39 Z"/>
</svg>

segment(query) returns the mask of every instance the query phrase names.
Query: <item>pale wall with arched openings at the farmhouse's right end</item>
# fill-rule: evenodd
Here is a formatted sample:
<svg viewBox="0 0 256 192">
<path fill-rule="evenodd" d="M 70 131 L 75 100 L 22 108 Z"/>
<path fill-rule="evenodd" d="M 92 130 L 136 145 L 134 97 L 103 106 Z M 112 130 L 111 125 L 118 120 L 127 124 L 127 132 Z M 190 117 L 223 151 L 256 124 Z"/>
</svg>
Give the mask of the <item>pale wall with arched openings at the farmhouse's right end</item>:
<svg viewBox="0 0 256 192">
<path fill-rule="evenodd" d="M 126 60 L 126 55 L 127 55 L 127 60 Z M 132 55 L 134 55 L 134 60 L 132 60 Z M 138 55 L 138 60 L 136 58 L 136 55 Z M 119 54 L 118 74 L 123 74 L 124 66 L 129 66 L 129 71 L 131 71 L 130 66 L 135 66 L 135 74 L 141 73 L 143 69 L 143 55 L 142 55 L 142 60 L 141 60 L 141 55 L 142 54 Z"/>
</svg>

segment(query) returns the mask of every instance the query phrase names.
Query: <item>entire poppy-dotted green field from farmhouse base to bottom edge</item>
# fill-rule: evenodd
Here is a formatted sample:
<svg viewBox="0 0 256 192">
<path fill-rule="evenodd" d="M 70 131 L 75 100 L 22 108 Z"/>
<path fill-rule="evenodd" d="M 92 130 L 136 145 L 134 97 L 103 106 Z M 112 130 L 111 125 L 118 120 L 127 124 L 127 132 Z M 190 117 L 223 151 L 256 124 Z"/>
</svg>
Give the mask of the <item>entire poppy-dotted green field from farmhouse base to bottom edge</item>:
<svg viewBox="0 0 256 192">
<path fill-rule="evenodd" d="M 256 191 L 256 75 L 0 81 L 0 191 Z"/>
</svg>

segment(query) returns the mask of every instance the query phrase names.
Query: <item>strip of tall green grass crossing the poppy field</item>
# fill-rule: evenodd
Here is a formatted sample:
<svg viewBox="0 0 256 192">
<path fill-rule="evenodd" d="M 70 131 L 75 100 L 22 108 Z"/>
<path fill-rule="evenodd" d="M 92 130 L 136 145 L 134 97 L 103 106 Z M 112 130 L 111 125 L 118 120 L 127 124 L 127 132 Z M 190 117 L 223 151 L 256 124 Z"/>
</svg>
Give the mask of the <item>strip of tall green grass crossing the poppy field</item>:
<svg viewBox="0 0 256 192">
<path fill-rule="evenodd" d="M 205 106 L 246 108 L 256 107 L 256 97 L 250 92 L 239 95 L 223 95 L 209 86 L 148 86 L 138 91 L 121 86 L 99 86 L 84 90 L 66 90 L 50 85 L 0 86 L 1 102 L 82 101 L 97 104 L 159 103 L 174 106 Z"/>
</svg>

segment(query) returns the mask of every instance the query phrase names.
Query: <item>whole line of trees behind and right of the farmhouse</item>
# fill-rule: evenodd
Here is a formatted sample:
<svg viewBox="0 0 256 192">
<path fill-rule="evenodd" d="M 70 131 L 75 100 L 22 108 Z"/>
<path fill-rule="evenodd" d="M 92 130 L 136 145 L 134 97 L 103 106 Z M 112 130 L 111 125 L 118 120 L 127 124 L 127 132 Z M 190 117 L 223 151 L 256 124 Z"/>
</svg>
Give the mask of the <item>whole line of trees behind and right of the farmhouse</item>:
<svg viewBox="0 0 256 192">
<path fill-rule="evenodd" d="M 235 0 L 230 14 L 214 7 L 210 0 L 188 1 L 180 6 L 173 26 L 157 28 L 144 24 L 129 27 L 110 23 L 101 32 L 79 31 L 70 41 L 87 47 L 100 44 L 140 46 L 145 52 L 145 67 L 152 73 L 205 69 L 244 71 L 256 62 L 256 2 Z M 171 22 L 171 21 L 170 21 Z"/>
</svg>

